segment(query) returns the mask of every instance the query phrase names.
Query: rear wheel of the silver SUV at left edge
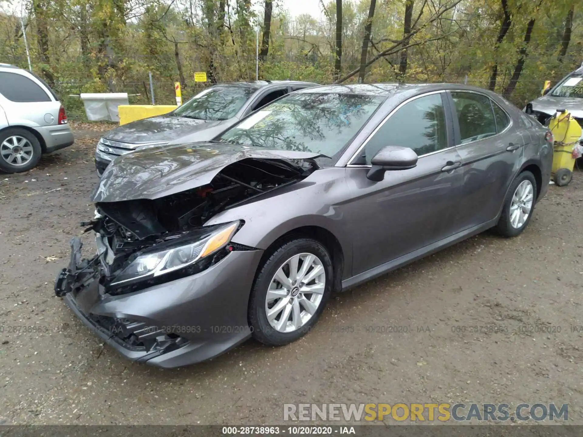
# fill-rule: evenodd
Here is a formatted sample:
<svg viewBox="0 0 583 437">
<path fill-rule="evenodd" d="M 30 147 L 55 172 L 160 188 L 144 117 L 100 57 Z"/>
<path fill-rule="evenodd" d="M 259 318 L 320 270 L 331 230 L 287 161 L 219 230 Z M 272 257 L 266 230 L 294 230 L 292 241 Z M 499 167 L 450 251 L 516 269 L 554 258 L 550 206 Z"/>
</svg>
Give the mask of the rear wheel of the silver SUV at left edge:
<svg viewBox="0 0 583 437">
<path fill-rule="evenodd" d="M 30 170 L 38 163 L 40 155 L 38 139 L 26 129 L 10 128 L 0 132 L 0 170 L 8 173 Z"/>
</svg>

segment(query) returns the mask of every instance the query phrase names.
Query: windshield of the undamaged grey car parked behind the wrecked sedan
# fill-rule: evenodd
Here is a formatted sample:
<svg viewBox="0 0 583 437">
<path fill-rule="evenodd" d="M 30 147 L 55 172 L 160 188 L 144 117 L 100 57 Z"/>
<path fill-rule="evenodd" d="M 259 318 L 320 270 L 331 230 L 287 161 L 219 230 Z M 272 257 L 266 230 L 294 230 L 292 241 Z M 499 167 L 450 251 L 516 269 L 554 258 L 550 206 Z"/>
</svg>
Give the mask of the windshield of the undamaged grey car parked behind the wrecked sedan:
<svg viewBox="0 0 583 437">
<path fill-rule="evenodd" d="M 226 120 L 233 118 L 254 92 L 255 88 L 251 86 L 213 86 L 178 107 L 173 115 L 201 120 Z"/>
</svg>

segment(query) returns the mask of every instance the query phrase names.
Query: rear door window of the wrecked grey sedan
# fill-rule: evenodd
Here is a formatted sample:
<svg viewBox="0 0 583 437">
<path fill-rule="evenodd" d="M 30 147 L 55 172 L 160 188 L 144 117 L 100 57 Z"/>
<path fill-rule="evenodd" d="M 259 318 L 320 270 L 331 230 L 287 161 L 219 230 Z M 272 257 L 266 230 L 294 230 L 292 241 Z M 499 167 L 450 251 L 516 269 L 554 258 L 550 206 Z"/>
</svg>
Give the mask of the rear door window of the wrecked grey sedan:
<svg viewBox="0 0 583 437">
<path fill-rule="evenodd" d="M 455 111 L 458 114 L 461 144 L 496 135 L 496 122 L 490 97 L 483 94 L 452 91 Z"/>
</svg>

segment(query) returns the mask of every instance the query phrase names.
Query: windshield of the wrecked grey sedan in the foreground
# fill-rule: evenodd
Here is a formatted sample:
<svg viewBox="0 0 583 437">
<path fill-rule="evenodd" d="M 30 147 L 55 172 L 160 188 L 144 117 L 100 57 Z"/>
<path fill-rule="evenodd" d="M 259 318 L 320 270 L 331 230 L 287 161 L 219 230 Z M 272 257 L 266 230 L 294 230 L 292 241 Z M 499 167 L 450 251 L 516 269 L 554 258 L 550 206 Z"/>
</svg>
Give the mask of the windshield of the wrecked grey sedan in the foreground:
<svg viewBox="0 0 583 437">
<path fill-rule="evenodd" d="M 254 112 L 215 140 L 332 157 L 383 100 L 360 94 L 290 94 Z"/>
</svg>

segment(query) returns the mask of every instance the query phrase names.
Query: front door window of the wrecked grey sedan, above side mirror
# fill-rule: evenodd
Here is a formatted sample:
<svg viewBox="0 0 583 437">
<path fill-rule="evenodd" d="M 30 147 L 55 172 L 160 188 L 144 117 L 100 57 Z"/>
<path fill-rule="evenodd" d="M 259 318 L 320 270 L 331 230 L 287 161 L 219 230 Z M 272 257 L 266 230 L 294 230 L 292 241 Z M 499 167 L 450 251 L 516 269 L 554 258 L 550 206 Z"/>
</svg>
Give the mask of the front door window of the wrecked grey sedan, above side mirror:
<svg viewBox="0 0 583 437">
<path fill-rule="evenodd" d="M 368 164 L 385 146 L 410 147 L 418 156 L 447 148 L 441 94 L 419 97 L 399 108 L 368 140 L 353 164 Z"/>
</svg>

